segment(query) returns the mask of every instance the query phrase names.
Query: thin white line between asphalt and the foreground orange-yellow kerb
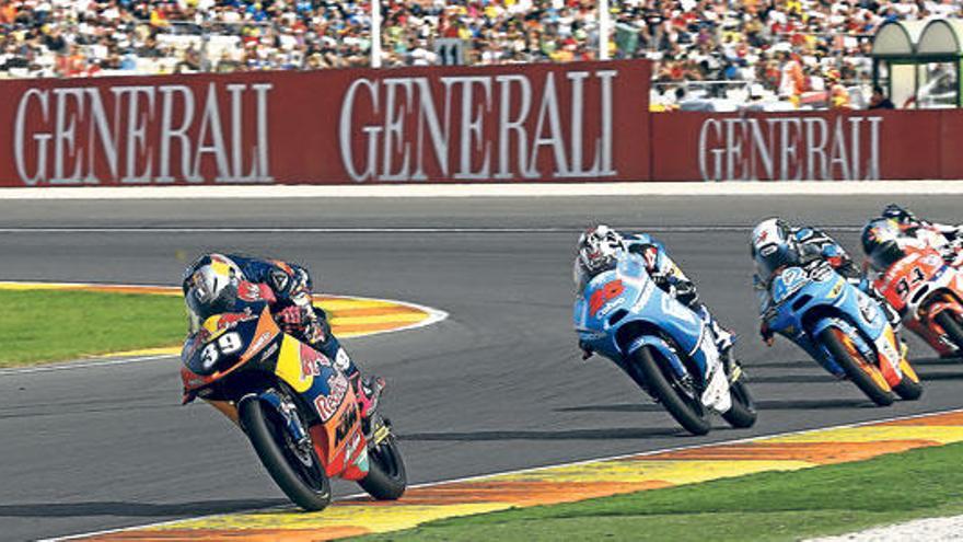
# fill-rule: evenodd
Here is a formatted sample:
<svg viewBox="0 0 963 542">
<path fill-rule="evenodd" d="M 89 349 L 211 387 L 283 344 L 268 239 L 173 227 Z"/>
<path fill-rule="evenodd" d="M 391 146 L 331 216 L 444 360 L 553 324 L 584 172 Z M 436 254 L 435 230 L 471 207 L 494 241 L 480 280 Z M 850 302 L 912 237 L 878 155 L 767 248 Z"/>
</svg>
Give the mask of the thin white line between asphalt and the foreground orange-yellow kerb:
<svg viewBox="0 0 963 542">
<path fill-rule="evenodd" d="M 608 457 L 596 458 L 596 459 L 583 459 L 580 461 L 571 461 L 568 463 L 558 463 L 558 464 L 544 465 L 544 466 L 530 466 L 530 468 L 517 469 L 517 470 L 512 470 L 512 471 L 502 471 L 502 472 L 492 472 L 489 474 L 479 474 L 476 476 L 465 476 L 465 477 L 451 478 L 451 480 L 440 480 L 437 482 L 426 482 L 422 484 L 413 484 L 413 485 L 409 485 L 408 488 L 436 487 L 436 486 L 440 486 L 440 485 L 457 484 L 461 482 L 474 482 L 474 481 L 478 481 L 478 480 L 489 480 L 489 478 L 494 478 L 497 476 L 507 476 L 507 475 L 513 475 L 513 474 L 526 474 L 526 473 L 539 472 L 539 471 L 545 471 L 545 470 L 550 470 L 550 469 L 579 466 L 579 465 L 589 464 L 589 463 L 597 463 L 601 461 L 616 461 L 616 460 L 627 459 L 627 458 L 649 457 L 649 455 L 655 455 L 659 453 L 670 453 L 670 452 L 676 452 L 676 451 L 682 451 L 682 450 L 694 450 L 697 448 L 709 448 L 709 447 L 713 447 L 713 446 L 755 442 L 755 441 L 766 440 L 766 439 L 770 439 L 770 438 L 791 437 L 793 435 L 803 435 L 807 433 L 828 431 L 828 430 L 835 430 L 835 429 L 862 427 L 862 426 L 867 426 L 867 425 L 884 424 L 886 422 L 896 422 L 900 419 L 921 418 L 921 417 L 926 417 L 926 416 L 950 414 L 950 413 L 954 413 L 954 412 L 963 412 L 963 408 L 950 408 L 947 411 L 926 412 L 926 413 L 920 413 L 920 414 L 908 414 L 905 416 L 892 416 L 889 418 L 870 419 L 867 422 L 857 422 L 857 423 L 852 423 L 852 424 L 842 424 L 842 425 L 834 425 L 834 426 L 828 426 L 828 427 L 819 427 L 815 429 L 799 429 L 796 431 L 774 433 L 770 435 L 757 435 L 755 437 L 746 437 L 746 438 L 740 438 L 740 439 L 733 439 L 733 440 L 721 440 L 721 441 L 717 441 L 717 442 L 704 442 L 704 443 L 699 443 L 699 445 L 677 446 L 677 447 L 673 447 L 673 448 L 663 448 L 660 450 L 650 450 L 650 451 L 645 451 L 645 452 L 622 453 L 618 455 L 608 455 Z M 885 455 L 885 453 L 883 455 Z M 877 455 L 877 457 L 879 457 L 879 455 Z M 849 461 L 849 462 L 855 463 L 857 461 Z M 819 466 L 819 465 L 815 465 L 815 466 Z M 726 477 L 726 476 L 723 476 L 723 477 Z M 696 484 L 698 484 L 698 483 L 678 484 L 678 485 L 682 486 L 682 485 L 696 485 Z M 349 500 L 349 499 L 357 498 L 357 497 L 363 497 L 364 495 L 367 495 L 367 494 L 357 493 L 357 494 L 346 495 L 344 497 L 336 498 L 335 500 L 336 501 L 344 501 L 344 500 Z M 289 509 L 289 508 L 293 509 L 293 507 L 290 505 L 283 505 L 283 506 L 278 506 L 278 507 L 262 508 L 259 510 L 276 510 L 276 509 L 282 510 L 282 509 Z M 117 529 L 106 529 L 103 531 L 85 532 L 85 533 L 81 533 L 81 534 L 70 534 L 67 537 L 40 539 L 37 542 L 60 542 L 60 541 L 67 541 L 67 540 L 77 540 L 77 539 L 82 539 L 82 538 L 88 538 L 88 537 L 100 537 L 100 535 L 104 535 L 104 534 L 112 534 L 112 533 L 116 533 L 116 532 L 126 532 L 126 531 L 135 531 L 138 529 L 149 529 L 149 528 L 153 528 L 153 527 L 170 526 L 170 524 L 178 523 L 181 521 L 186 521 L 186 520 L 213 519 L 213 518 L 221 518 L 224 516 L 233 516 L 233 515 L 237 515 L 237 514 L 250 514 L 253 511 L 257 511 L 257 510 L 239 510 L 239 511 L 234 511 L 234 512 L 212 514 L 210 516 L 199 516 L 196 518 L 188 517 L 188 518 L 181 518 L 181 519 L 172 519 L 169 521 L 158 521 L 155 523 L 146 523 L 146 524 L 141 524 L 141 526 L 121 527 L 121 528 L 117 528 Z"/>
</svg>

